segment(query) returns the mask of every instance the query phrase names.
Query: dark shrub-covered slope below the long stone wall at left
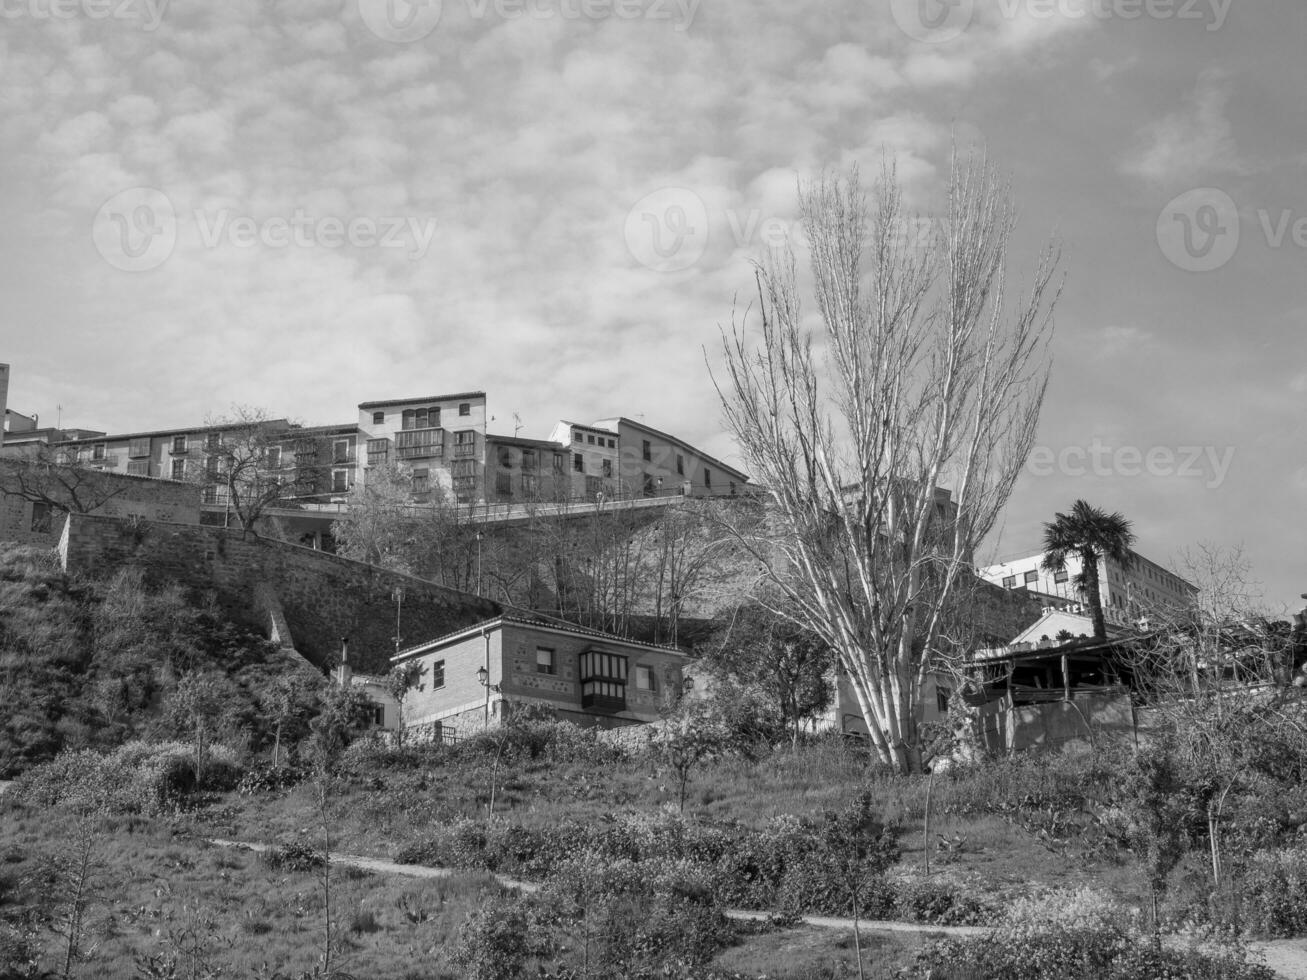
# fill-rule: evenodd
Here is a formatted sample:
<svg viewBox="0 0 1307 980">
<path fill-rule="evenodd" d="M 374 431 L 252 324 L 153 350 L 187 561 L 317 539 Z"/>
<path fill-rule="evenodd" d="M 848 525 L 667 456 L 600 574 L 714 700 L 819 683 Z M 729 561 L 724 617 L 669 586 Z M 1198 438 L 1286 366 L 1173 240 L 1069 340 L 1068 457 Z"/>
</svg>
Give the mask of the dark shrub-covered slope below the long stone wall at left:
<svg viewBox="0 0 1307 980">
<path fill-rule="evenodd" d="M 281 678 L 306 711 L 323 682 L 222 619 L 203 596 L 146 589 L 136 571 L 72 579 L 50 551 L 0 545 L 0 779 L 64 749 L 188 737 L 196 713 L 187 690 L 193 695 L 201 679 L 223 702 L 214 737 L 261 750 L 271 738 L 268 693 Z"/>
</svg>

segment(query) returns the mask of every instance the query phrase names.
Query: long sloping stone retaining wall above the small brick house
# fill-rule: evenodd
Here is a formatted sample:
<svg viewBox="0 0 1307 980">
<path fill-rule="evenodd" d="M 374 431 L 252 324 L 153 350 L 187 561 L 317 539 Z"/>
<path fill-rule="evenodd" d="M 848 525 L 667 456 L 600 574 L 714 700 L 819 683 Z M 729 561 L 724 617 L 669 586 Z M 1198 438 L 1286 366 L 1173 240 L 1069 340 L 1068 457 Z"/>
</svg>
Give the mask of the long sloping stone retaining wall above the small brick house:
<svg viewBox="0 0 1307 980">
<path fill-rule="evenodd" d="M 384 674 L 395 652 L 396 612 L 403 645 L 489 619 L 490 600 L 299 545 L 191 524 L 72 515 L 59 542 L 69 572 L 102 575 L 124 566 L 157 584 L 178 581 L 210 595 L 235 622 L 269 634 L 268 596 L 297 651 L 319 666 L 340 660 L 349 638 L 356 670 Z M 260 587 L 264 587 L 260 589 Z M 403 592 L 396 602 L 397 591 Z M 285 642 L 285 638 L 281 638 Z"/>
</svg>

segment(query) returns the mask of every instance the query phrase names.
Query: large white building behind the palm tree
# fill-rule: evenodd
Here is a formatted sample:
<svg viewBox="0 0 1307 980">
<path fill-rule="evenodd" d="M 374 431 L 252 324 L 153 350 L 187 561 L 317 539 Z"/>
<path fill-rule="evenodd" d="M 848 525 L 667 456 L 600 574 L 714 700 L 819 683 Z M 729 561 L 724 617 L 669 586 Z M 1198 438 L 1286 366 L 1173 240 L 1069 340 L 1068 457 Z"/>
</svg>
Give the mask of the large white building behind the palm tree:
<svg viewBox="0 0 1307 980">
<path fill-rule="evenodd" d="M 1128 625 L 1150 612 L 1167 608 L 1180 609 L 1193 602 L 1199 589 L 1157 562 L 1131 551 L 1132 562 L 1121 567 L 1100 558 L 1098 581 L 1103 600 L 1103 617 L 1117 625 Z M 1043 567 L 1044 553 L 1026 554 L 979 570 L 987 581 L 1006 589 L 1030 589 L 1055 596 L 1069 602 L 1081 602 L 1084 596 L 1076 585 L 1082 567 L 1074 555 L 1067 558 L 1067 568 L 1051 572 Z"/>
</svg>

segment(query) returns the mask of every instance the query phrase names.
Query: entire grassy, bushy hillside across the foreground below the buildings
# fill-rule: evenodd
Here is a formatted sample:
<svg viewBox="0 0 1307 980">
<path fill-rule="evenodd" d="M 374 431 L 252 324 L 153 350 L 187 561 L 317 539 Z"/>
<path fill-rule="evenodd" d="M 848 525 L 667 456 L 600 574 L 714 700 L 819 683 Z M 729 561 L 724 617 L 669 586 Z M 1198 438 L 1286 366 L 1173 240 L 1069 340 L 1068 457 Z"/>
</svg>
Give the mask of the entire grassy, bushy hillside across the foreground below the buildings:
<svg viewBox="0 0 1307 980">
<path fill-rule="evenodd" d="M 1265 980 L 1240 943 L 1307 936 L 1298 702 L 899 776 L 735 694 L 625 746 L 529 711 L 387 743 L 203 597 L 29 550 L 0 554 L 0 977 Z"/>
</svg>

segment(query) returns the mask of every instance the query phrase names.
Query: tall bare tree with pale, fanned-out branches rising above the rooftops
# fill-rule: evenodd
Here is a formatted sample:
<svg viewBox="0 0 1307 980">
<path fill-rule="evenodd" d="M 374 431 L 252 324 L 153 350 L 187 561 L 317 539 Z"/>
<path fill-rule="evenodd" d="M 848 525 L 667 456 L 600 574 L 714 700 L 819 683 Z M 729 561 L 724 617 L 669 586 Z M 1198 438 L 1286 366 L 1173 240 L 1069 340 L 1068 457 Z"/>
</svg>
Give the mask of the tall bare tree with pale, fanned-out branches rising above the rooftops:
<svg viewBox="0 0 1307 980">
<path fill-rule="evenodd" d="M 758 558 L 835 651 L 880 757 L 919 771 L 941 623 L 1035 436 L 1059 256 L 1009 306 L 1016 212 L 983 159 L 954 157 L 944 222 L 904 212 L 893 165 L 873 206 L 856 170 L 801 186 L 799 204 L 821 325 L 793 253 L 761 265 L 757 340 L 732 323 L 718 391 L 771 494 Z"/>
</svg>

